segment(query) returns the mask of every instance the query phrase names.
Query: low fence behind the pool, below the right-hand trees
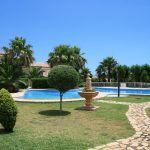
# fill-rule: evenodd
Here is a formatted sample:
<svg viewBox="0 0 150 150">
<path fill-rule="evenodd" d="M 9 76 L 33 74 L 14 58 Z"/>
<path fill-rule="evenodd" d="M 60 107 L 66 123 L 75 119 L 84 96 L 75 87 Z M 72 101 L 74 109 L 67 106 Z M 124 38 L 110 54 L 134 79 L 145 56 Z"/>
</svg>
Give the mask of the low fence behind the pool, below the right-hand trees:
<svg viewBox="0 0 150 150">
<path fill-rule="evenodd" d="M 117 87 L 117 82 L 92 82 L 92 86 L 95 87 Z M 121 87 L 133 87 L 133 88 L 150 88 L 150 83 L 144 82 L 121 82 Z"/>
</svg>

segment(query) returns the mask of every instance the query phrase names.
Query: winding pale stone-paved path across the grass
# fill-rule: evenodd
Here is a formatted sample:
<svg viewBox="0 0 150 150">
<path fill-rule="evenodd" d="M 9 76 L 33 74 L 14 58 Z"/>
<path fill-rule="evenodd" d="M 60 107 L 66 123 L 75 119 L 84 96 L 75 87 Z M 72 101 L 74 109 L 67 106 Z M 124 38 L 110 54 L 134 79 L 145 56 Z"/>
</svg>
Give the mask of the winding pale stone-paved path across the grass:
<svg viewBox="0 0 150 150">
<path fill-rule="evenodd" d="M 145 112 L 145 109 L 150 107 L 150 102 L 140 104 L 103 100 L 100 100 L 100 102 L 129 105 L 126 116 L 136 133 L 127 139 L 117 140 L 89 150 L 150 150 L 150 118 L 147 117 Z"/>
</svg>

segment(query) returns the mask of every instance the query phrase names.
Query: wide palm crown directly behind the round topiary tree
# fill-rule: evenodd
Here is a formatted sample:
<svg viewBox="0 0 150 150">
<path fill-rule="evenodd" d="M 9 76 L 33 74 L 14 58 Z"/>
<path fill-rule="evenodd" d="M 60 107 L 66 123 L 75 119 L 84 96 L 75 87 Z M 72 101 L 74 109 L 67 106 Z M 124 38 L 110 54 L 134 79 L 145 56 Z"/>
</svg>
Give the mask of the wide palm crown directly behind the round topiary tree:
<svg viewBox="0 0 150 150">
<path fill-rule="evenodd" d="M 82 70 L 87 62 L 83 57 L 84 53 L 80 52 L 80 48 L 68 45 L 59 45 L 54 51 L 49 53 L 48 63 L 51 67 L 56 65 L 70 65 L 78 72 Z"/>
</svg>

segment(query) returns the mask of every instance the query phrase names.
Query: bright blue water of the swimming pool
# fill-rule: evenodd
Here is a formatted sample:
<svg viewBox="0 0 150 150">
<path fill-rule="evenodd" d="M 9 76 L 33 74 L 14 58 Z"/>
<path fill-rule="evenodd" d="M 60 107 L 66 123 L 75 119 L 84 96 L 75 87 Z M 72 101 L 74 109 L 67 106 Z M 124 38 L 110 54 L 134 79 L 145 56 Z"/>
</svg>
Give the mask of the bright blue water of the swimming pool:
<svg viewBox="0 0 150 150">
<path fill-rule="evenodd" d="M 117 88 L 95 88 L 98 92 L 117 93 Z M 66 92 L 64 99 L 81 98 L 78 92 L 81 89 L 74 89 Z M 120 89 L 121 94 L 150 94 L 150 89 Z M 23 99 L 59 99 L 59 92 L 57 90 L 27 90 Z"/>
</svg>

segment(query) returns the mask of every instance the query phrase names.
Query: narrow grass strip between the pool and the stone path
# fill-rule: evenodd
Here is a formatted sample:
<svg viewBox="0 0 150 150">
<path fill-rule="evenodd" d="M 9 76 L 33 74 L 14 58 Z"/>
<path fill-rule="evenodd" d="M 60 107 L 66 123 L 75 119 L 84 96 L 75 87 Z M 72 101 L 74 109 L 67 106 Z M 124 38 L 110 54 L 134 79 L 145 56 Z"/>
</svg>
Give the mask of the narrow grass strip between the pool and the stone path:
<svg viewBox="0 0 150 150">
<path fill-rule="evenodd" d="M 116 102 L 129 102 L 129 103 L 144 103 L 150 102 L 150 96 L 128 96 L 128 97 L 104 97 L 102 100 L 112 100 Z"/>
</svg>

